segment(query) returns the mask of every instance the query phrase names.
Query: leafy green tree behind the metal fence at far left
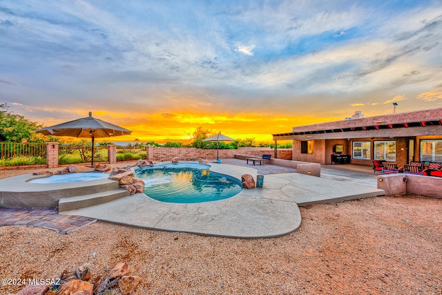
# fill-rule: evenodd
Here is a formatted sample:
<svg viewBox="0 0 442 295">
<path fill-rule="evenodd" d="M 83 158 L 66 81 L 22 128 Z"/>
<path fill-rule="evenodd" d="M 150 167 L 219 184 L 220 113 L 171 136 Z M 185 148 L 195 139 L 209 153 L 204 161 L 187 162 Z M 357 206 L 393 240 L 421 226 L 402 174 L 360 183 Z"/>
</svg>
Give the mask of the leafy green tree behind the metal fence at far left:
<svg viewBox="0 0 442 295">
<path fill-rule="evenodd" d="M 7 104 L 0 104 L 0 142 L 43 142 L 44 136 L 37 134 L 36 129 L 42 126 L 30 122 L 21 115 L 8 111 Z"/>
</svg>

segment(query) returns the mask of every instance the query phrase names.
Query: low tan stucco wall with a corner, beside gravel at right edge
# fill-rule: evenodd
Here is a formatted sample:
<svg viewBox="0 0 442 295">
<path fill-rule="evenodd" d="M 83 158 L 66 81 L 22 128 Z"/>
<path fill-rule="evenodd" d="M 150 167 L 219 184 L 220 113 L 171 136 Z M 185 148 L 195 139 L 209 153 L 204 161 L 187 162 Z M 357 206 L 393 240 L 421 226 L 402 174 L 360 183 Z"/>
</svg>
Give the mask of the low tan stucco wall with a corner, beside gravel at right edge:
<svg viewBox="0 0 442 295">
<path fill-rule="evenodd" d="M 442 178 L 414 174 L 389 174 L 378 176 L 378 189 L 385 191 L 385 196 L 412 193 L 432 198 L 442 198 Z"/>
</svg>

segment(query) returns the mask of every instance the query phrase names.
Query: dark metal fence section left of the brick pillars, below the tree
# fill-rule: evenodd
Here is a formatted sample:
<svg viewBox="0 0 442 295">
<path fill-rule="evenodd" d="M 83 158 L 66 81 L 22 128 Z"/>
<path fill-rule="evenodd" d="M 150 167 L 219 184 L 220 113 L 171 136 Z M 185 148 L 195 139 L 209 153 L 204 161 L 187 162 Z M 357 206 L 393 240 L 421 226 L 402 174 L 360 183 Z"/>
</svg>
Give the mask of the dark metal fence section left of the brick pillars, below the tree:
<svg viewBox="0 0 442 295">
<path fill-rule="evenodd" d="M 0 142 L 0 166 L 46 164 L 46 144 Z"/>
</svg>

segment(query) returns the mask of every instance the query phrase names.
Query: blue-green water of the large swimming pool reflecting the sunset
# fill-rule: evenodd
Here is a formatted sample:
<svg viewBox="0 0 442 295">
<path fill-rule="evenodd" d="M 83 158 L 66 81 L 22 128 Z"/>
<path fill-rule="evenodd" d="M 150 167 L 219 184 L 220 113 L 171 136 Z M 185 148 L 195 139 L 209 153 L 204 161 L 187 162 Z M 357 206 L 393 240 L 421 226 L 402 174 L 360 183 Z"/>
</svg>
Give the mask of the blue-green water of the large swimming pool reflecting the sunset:
<svg viewBox="0 0 442 295">
<path fill-rule="evenodd" d="M 162 202 L 196 203 L 223 200 L 242 190 L 236 178 L 209 171 L 196 163 L 159 164 L 135 171 L 144 183 L 144 193 Z"/>
</svg>

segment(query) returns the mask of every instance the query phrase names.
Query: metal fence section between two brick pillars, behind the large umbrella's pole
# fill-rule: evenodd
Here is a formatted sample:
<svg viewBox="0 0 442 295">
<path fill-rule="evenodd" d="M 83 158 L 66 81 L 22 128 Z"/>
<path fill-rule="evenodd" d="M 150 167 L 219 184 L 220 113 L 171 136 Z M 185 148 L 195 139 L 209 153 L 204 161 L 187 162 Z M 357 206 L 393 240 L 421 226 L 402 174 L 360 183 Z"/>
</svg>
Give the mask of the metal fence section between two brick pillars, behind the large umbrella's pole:
<svg viewBox="0 0 442 295">
<path fill-rule="evenodd" d="M 95 146 L 94 162 L 107 162 L 107 146 Z M 59 164 L 79 164 L 92 162 L 91 144 L 59 144 Z"/>
</svg>

